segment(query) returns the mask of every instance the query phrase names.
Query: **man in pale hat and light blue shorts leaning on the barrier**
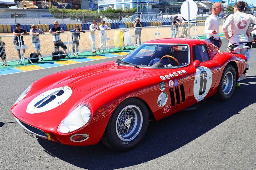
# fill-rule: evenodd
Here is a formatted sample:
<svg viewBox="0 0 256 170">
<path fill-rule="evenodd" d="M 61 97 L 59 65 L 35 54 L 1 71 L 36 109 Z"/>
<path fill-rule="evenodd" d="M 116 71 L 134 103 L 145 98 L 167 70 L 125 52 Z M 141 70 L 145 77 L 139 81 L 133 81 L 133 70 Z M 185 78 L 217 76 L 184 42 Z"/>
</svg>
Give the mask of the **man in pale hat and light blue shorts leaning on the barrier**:
<svg viewBox="0 0 256 170">
<path fill-rule="evenodd" d="M 30 34 L 33 35 L 31 42 L 33 43 L 33 46 L 34 46 L 34 48 L 35 48 L 36 51 L 37 51 L 38 57 L 40 57 L 40 58 L 39 58 L 39 61 L 42 61 L 43 58 L 41 58 L 41 57 L 42 57 L 42 55 L 41 55 L 41 53 L 40 53 L 41 44 L 40 44 L 40 40 L 39 40 L 39 36 L 38 36 L 38 35 L 39 35 L 39 34 L 43 34 L 43 33 L 44 33 L 43 31 L 41 31 L 40 29 L 37 28 L 36 24 L 33 24 L 33 25 L 32 25 L 32 28 L 30 29 Z"/>
</svg>

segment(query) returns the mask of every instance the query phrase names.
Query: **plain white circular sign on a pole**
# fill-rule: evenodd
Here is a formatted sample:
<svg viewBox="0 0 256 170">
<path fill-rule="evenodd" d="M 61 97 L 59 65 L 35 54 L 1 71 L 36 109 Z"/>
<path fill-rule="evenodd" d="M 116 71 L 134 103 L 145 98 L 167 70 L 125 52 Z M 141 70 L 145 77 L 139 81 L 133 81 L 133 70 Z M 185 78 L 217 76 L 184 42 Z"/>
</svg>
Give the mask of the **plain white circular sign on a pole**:
<svg viewBox="0 0 256 170">
<path fill-rule="evenodd" d="M 197 5 L 195 1 L 187 0 L 180 7 L 181 16 L 186 20 L 191 20 L 196 17 Z"/>
</svg>

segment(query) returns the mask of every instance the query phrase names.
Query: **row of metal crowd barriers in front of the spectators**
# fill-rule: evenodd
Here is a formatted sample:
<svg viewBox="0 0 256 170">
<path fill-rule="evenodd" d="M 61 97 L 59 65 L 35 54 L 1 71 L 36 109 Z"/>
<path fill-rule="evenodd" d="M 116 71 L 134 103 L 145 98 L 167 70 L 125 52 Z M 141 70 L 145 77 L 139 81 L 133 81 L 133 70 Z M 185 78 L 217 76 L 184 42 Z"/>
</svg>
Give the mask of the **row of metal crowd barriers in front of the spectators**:
<svg viewBox="0 0 256 170">
<path fill-rule="evenodd" d="M 220 23 L 219 33 L 222 32 L 222 25 Z M 172 35 L 173 25 L 164 25 L 164 26 L 147 26 L 147 27 L 136 27 L 136 28 L 120 28 L 120 29 L 111 29 L 106 30 L 105 35 L 100 34 L 100 31 L 85 31 L 79 32 L 80 36 L 75 36 L 72 32 L 69 33 L 60 33 L 60 34 L 39 34 L 39 35 L 21 35 L 18 36 L 1 36 L 2 42 L 5 43 L 4 47 L 0 47 L 1 61 L 0 63 L 6 63 L 11 61 L 19 61 L 24 65 L 25 60 L 32 63 L 29 59 L 31 53 L 38 53 L 38 57 L 50 57 L 60 55 L 53 53 L 54 51 L 64 51 L 64 54 L 68 54 L 70 57 L 75 56 L 76 54 L 82 52 L 100 51 L 100 52 L 109 52 L 112 48 L 124 48 L 127 46 L 138 46 L 143 42 L 170 38 Z M 190 35 L 195 34 L 195 38 L 204 34 L 204 22 L 190 24 Z M 95 46 L 92 47 L 91 35 L 94 33 Z M 176 37 L 188 37 L 188 24 L 177 26 L 175 33 Z M 73 35 L 73 36 L 72 36 Z M 61 42 L 53 42 L 56 36 L 60 36 Z M 14 44 L 13 38 L 18 39 L 18 43 Z M 192 37 L 192 36 L 190 36 Z M 21 43 L 21 38 L 23 38 L 24 45 Z M 33 41 L 33 38 L 38 39 Z M 102 42 L 100 43 L 100 38 Z M 20 45 L 19 45 L 20 44 Z M 15 46 L 16 45 L 16 46 Z M 62 47 L 62 48 L 60 48 Z M 63 49 L 64 48 L 64 49 Z M 21 50 L 23 49 L 23 50 Z M 5 51 L 5 56 L 2 51 Z M 21 59 L 19 58 L 18 51 L 21 51 Z M 2 57 L 3 56 L 3 57 Z"/>
</svg>

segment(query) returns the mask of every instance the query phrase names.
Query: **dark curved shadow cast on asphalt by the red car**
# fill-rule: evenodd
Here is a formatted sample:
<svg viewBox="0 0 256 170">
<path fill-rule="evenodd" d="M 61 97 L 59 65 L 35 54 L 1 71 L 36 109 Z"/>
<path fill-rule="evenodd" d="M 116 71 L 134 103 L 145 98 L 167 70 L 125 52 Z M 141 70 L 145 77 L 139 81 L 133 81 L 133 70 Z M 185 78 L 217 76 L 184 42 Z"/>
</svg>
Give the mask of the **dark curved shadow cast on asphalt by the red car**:
<svg viewBox="0 0 256 170">
<path fill-rule="evenodd" d="M 241 88 L 226 102 L 209 98 L 199 102 L 197 110 L 150 122 L 142 143 L 128 152 L 113 151 L 101 142 L 92 146 L 68 146 L 40 137 L 37 140 L 49 155 L 80 168 L 118 169 L 138 165 L 179 149 L 255 103 L 256 84 L 251 82 L 256 82 L 256 77 L 242 80 Z"/>
</svg>

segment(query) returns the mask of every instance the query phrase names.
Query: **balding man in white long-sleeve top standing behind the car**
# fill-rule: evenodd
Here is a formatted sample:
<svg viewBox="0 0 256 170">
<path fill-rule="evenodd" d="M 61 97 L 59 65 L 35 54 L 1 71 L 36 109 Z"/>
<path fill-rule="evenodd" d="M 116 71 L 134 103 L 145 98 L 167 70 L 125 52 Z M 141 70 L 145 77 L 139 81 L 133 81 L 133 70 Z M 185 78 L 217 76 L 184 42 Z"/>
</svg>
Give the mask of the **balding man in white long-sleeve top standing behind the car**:
<svg viewBox="0 0 256 170">
<path fill-rule="evenodd" d="M 206 18 L 204 23 L 204 33 L 207 34 L 206 41 L 211 42 L 218 48 L 221 46 L 221 40 L 219 35 L 220 22 L 218 15 L 222 11 L 222 6 L 219 2 L 212 4 L 212 14 Z"/>
</svg>

